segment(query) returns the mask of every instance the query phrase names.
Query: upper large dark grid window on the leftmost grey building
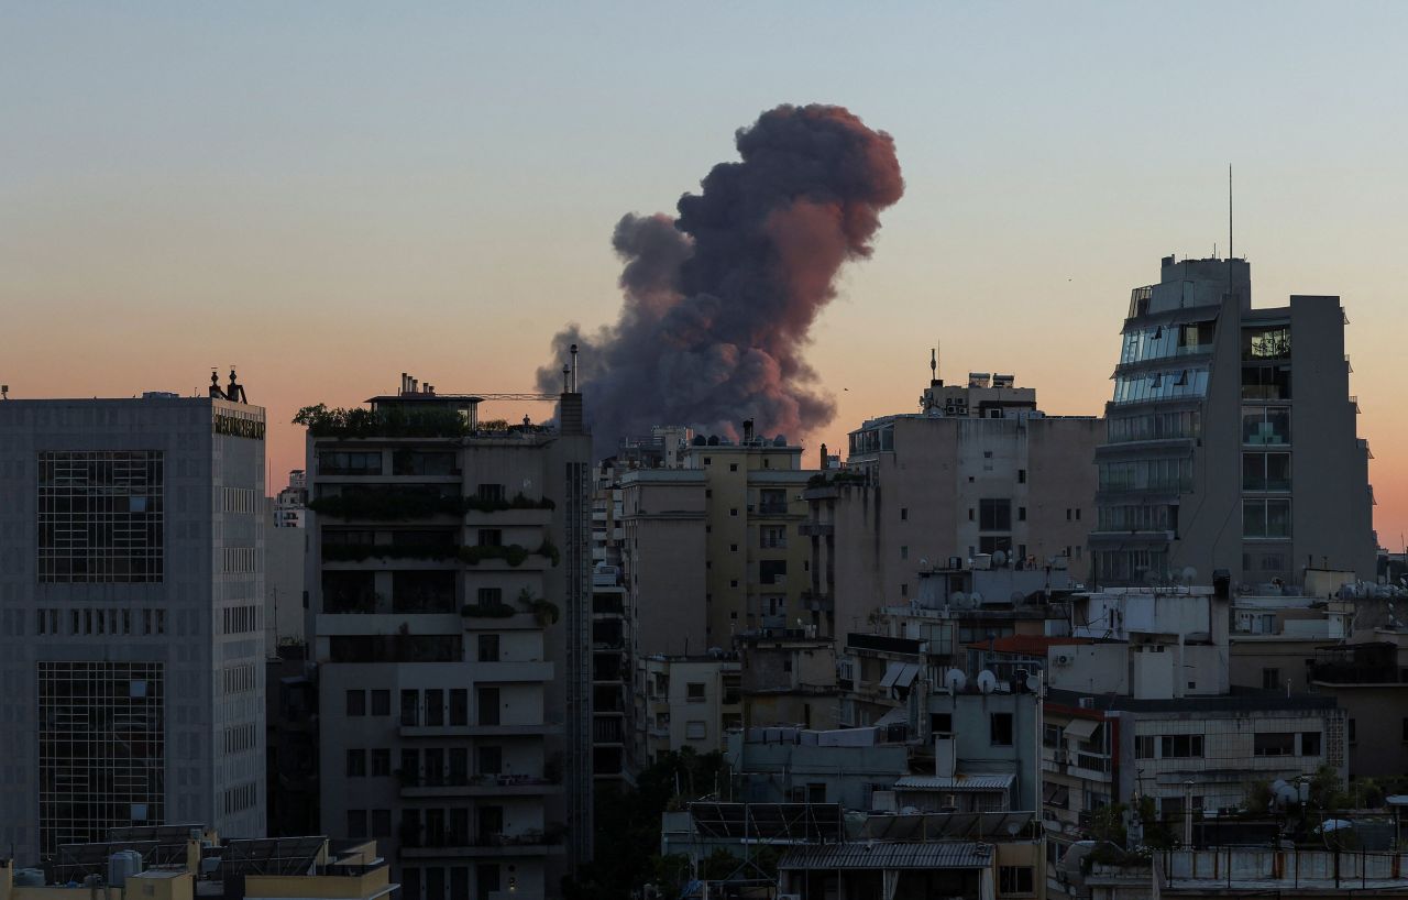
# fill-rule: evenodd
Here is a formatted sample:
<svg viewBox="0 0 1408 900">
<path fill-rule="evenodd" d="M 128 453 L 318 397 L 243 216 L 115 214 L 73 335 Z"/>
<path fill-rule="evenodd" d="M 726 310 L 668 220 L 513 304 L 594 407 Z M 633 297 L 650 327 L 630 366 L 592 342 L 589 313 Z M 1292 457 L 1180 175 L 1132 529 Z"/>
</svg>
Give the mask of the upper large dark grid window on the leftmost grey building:
<svg viewBox="0 0 1408 900">
<path fill-rule="evenodd" d="M 159 451 L 39 454 L 39 582 L 161 582 Z"/>
</svg>

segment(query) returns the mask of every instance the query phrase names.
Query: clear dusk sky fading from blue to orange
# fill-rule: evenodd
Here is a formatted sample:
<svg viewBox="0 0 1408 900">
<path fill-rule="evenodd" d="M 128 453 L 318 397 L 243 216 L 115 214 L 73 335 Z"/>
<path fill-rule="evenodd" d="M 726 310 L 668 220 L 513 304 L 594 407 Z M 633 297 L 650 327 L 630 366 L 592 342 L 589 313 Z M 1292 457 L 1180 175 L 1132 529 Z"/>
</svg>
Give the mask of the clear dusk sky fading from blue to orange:
<svg viewBox="0 0 1408 900">
<path fill-rule="evenodd" d="M 306 404 L 532 390 L 620 307 L 611 228 L 734 131 L 835 103 L 904 199 L 808 358 L 808 463 L 942 376 L 1110 397 L 1129 289 L 1236 254 L 1253 303 L 1339 294 L 1380 541 L 1408 531 L 1408 4 L 27 3 L 0 7 L 0 382 L 201 389 L 239 366 L 272 486 Z M 587 397 L 590 403 L 590 397 Z M 508 418 L 546 414 L 503 404 Z"/>
</svg>

